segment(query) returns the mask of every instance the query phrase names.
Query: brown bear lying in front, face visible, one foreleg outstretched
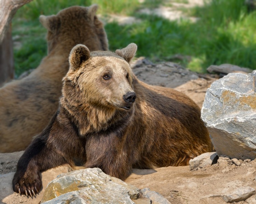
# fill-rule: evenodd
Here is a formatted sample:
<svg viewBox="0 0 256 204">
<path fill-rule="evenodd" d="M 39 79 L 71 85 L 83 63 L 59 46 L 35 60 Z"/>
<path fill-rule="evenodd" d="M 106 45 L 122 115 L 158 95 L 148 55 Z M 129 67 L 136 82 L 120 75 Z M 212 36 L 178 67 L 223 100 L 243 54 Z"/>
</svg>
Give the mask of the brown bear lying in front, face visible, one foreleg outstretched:
<svg viewBox="0 0 256 204">
<path fill-rule="evenodd" d="M 188 165 L 211 151 L 200 108 L 191 99 L 132 73 L 128 63 L 136 50 L 135 44 L 115 53 L 72 49 L 59 109 L 20 157 L 15 192 L 35 195 L 40 171 L 74 165 L 74 159 L 124 180 L 132 168 Z"/>
</svg>

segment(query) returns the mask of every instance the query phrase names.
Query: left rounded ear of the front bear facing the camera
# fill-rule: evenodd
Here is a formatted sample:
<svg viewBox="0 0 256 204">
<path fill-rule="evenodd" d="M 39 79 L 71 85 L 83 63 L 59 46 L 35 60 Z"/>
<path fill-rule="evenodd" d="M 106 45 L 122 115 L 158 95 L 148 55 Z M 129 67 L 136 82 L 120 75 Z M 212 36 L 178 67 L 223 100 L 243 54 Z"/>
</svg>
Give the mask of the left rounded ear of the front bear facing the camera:
<svg viewBox="0 0 256 204">
<path fill-rule="evenodd" d="M 76 45 L 70 52 L 69 64 L 70 69 L 76 70 L 81 64 L 90 58 L 90 51 L 85 45 Z"/>
</svg>

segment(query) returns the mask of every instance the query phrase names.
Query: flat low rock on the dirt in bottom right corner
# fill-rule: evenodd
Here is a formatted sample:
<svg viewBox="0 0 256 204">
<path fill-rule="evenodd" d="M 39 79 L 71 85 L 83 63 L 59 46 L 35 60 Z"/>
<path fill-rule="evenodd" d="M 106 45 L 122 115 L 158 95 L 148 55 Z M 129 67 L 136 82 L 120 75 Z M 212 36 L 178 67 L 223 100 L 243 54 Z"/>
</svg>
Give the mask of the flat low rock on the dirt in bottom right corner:
<svg viewBox="0 0 256 204">
<path fill-rule="evenodd" d="M 256 193 L 255 189 L 252 187 L 242 187 L 237 189 L 236 191 L 223 195 L 223 200 L 226 203 L 245 201 L 247 198 L 251 197 Z"/>
</svg>

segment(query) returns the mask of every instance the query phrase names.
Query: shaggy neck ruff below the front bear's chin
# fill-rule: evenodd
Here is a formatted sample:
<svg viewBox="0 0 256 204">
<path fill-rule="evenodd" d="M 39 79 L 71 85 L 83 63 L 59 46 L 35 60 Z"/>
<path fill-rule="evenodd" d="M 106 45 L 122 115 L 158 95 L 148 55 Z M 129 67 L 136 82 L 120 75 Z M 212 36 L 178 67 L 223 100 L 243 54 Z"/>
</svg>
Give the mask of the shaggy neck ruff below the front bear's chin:
<svg viewBox="0 0 256 204">
<path fill-rule="evenodd" d="M 88 103 L 76 106 L 64 97 L 61 97 L 60 104 L 60 111 L 70 115 L 69 119 L 75 124 L 81 136 L 106 131 L 111 125 L 124 121 L 124 119 L 128 122 L 134 113 L 134 106 L 129 111 Z"/>
</svg>

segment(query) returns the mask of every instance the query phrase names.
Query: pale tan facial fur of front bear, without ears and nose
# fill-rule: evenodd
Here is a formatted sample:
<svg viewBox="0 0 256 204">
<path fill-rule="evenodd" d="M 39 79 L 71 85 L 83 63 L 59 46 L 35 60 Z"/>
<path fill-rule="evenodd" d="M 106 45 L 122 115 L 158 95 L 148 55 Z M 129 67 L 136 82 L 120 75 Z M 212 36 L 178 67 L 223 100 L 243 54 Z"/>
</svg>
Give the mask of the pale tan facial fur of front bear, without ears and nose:
<svg viewBox="0 0 256 204">
<path fill-rule="evenodd" d="M 123 96 L 127 92 L 133 92 L 129 64 L 112 56 L 91 57 L 87 63 L 79 69 L 77 79 L 77 85 L 82 90 L 86 102 L 112 108 L 125 106 Z M 105 80 L 105 75 L 110 79 Z"/>
</svg>

